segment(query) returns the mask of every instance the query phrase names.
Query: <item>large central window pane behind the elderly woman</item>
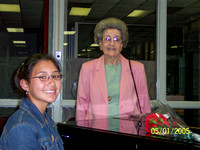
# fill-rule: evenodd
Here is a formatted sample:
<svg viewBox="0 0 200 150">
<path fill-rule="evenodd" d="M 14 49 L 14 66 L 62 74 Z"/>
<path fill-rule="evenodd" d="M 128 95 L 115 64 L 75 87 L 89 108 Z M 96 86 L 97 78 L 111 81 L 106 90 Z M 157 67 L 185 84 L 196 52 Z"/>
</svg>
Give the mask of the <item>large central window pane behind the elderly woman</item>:
<svg viewBox="0 0 200 150">
<path fill-rule="evenodd" d="M 69 2 L 69 3 L 67 3 Z M 128 26 L 129 43 L 122 54 L 128 59 L 145 64 L 151 99 L 156 99 L 156 0 L 86 0 L 66 1 L 65 31 L 75 31 L 64 37 L 66 51 L 66 78 L 63 80 L 63 98 L 76 99 L 77 81 L 81 65 L 99 58 L 102 52 L 94 46 L 94 28 L 104 18 L 122 19 Z M 91 8 L 87 16 L 70 15 L 72 7 Z M 139 16 L 128 17 L 133 11 Z M 74 58 L 77 57 L 77 58 Z M 81 58 L 81 59 L 80 59 Z"/>
</svg>

